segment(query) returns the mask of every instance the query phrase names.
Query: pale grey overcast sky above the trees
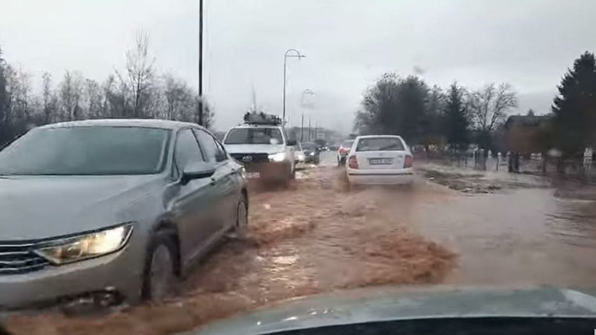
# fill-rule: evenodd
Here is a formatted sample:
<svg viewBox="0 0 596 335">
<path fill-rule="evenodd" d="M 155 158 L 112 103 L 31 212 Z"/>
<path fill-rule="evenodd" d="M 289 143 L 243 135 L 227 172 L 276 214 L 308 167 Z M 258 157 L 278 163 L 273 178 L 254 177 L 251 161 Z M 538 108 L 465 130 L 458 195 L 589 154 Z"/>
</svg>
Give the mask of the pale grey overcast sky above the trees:
<svg viewBox="0 0 596 335">
<path fill-rule="evenodd" d="M 347 132 L 362 92 L 388 70 L 423 70 L 429 85 L 457 79 L 476 88 L 510 82 L 519 113 L 550 108 L 555 86 L 596 46 L 596 1 L 204 0 L 205 92 L 216 128 L 252 104 L 281 114 L 283 55 L 287 114 L 300 122 L 300 93 L 316 93 L 306 115 Z M 44 70 L 103 80 L 125 63 L 135 31 L 150 35 L 160 70 L 198 82 L 198 0 L 1 0 L 4 57 L 39 82 Z M 514 113 L 517 113 L 515 111 Z"/>
</svg>

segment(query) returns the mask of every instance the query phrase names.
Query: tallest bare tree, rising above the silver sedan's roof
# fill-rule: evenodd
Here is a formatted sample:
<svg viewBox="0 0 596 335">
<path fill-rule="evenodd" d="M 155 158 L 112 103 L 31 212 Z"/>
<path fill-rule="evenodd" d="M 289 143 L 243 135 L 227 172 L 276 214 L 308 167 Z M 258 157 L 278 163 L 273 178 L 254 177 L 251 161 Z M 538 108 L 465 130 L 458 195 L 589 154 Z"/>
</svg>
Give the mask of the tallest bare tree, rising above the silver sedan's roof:
<svg viewBox="0 0 596 335">
<path fill-rule="evenodd" d="M 150 89 L 154 84 L 154 59 L 148 54 L 149 36 L 139 31 L 136 34 L 135 47 L 126 51 L 126 78 L 116 72 L 120 81 L 126 83 L 127 91 L 132 95 L 132 116 L 150 116 L 145 110 L 151 97 Z"/>
</svg>

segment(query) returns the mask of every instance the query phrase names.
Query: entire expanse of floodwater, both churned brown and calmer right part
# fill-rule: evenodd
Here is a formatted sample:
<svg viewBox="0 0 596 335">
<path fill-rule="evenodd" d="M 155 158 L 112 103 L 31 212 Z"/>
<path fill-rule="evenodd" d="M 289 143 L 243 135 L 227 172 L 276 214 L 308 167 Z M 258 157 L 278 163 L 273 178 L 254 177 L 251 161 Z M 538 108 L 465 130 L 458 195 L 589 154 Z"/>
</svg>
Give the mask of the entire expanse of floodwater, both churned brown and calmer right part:
<svg viewBox="0 0 596 335">
<path fill-rule="evenodd" d="M 223 243 L 166 302 L 5 322 L 15 334 L 171 334 L 373 285 L 593 286 L 596 191 L 425 166 L 412 190 L 350 189 L 341 173 L 322 166 L 288 188 L 252 188 L 247 234 Z"/>
</svg>

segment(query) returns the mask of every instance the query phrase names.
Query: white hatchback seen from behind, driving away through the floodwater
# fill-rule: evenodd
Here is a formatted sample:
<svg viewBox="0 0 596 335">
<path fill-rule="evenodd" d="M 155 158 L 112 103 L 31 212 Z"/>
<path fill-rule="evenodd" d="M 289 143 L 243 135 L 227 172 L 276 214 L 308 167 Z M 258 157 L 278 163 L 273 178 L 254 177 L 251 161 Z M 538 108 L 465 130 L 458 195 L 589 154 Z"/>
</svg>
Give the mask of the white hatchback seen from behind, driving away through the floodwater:
<svg viewBox="0 0 596 335">
<path fill-rule="evenodd" d="M 356 137 L 347 154 L 350 184 L 412 184 L 412 153 L 405 141 L 393 135 Z"/>
</svg>

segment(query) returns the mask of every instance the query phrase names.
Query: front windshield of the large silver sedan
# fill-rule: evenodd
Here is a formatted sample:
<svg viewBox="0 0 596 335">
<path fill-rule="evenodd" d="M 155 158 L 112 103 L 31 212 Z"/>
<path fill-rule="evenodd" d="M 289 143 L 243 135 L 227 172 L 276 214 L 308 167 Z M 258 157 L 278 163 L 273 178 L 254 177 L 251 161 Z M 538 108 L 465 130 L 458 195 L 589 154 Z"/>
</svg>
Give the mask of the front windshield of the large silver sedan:
<svg viewBox="0 0 596 335">
<path fill-rule="evenodd" d="M 169 131 L 134 127 L 33 129 L 0 151 L 2 175 L 133 175 L 162 168 Z"/>
</svg>

